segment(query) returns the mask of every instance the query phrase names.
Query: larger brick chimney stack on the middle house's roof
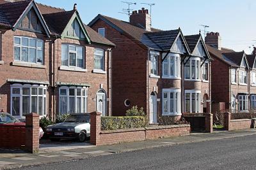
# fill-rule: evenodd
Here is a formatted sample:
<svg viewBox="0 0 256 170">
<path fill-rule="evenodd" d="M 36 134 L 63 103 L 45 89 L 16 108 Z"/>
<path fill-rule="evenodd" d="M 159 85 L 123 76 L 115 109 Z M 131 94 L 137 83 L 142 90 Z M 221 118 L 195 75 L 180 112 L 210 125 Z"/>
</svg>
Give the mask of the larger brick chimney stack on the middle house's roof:
<svg viewBox="0 0 256 170">
<path fill-rule="evenodd" d="M 151 31 L 151 17 L 148 14 L 148 10 L 141 8 L 141 10 L 132 11 L 130 16 L 130 24 L 137 27 L 143 27 L 146 31 Z"/>
</svg>

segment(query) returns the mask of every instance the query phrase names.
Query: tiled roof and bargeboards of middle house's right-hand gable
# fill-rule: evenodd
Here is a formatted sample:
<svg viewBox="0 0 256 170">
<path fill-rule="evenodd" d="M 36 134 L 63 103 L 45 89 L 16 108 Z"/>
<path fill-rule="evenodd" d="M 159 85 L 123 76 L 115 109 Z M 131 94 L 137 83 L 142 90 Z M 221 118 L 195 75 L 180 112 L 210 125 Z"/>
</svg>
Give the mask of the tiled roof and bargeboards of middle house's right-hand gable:
<svg viewBox="0 0 256 170">
<path fill-rule="evenodd" d="M 207 47 L 205 45 L 204 39 L 202 38 L 201 34 L 188 35 L 188 36 L 184 36 L 184 37 L 188 43 L 189 50 L 191 53 L 194 52 L 196 46 L 199 45 L 199 43 L 201 42 L 202 46 L 204 47 L 206 57 L 208 59 L 211 59 L 211 56 L 207 50 Z"/>
</svg>

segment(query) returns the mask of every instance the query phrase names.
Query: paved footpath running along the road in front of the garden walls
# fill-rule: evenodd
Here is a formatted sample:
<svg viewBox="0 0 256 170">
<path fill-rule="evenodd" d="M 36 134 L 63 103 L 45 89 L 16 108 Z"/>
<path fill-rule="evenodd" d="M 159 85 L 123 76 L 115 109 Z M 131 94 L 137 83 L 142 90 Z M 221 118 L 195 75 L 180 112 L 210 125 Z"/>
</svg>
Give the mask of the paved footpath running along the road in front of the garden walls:
<svg viewBox="0 0 256 170">
<path fill-rule="evenodd" d="M 53 143 L 48 146 L 46 144 L 41 145 L 40 152 L 36 154 L 26 153 L 21 150 L 0 149 L 0 169 L 33 167 L 56 162 L 84 160 L 102 155 L 115 155 L 116 153 L 132 152 L 146 148 L 162 148 L 164 146 L 238 138 L 255 134 L 256 129 L 246 129 L 241 131 L 216 131 L 211 134 L 191 133 L 189 136 L 135 141 L 104 146 L 93 146 L 89 143 L 78 143 L 78 145 L 77 143 L 68 143 L 68 145 Z"/>
</svg>

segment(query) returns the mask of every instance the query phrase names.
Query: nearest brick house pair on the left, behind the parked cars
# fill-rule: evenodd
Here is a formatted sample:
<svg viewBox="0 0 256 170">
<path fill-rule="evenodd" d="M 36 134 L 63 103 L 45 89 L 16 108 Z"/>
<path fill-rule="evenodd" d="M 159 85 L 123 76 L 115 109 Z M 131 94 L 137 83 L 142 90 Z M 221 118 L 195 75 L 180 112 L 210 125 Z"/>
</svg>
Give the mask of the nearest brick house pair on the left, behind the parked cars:
<svg viewBox="0 0 256 170">
<path fill-rule="evenodd" d="M 71 11 L 0 0 L 0 108 L 17 118 L 35 112 L 111 113 L 115 46 Z"/>
</svg>

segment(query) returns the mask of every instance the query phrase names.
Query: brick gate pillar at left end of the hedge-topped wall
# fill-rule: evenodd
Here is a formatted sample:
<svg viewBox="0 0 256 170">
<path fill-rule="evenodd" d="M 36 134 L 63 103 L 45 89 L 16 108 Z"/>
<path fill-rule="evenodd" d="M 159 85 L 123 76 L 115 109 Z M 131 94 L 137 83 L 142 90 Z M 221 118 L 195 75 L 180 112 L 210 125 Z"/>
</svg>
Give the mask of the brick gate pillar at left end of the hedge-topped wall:
<svg viewBox="0 0 256 170">
<path fill-rule="evenodd" d="M 101 113 L 93 111 L 90 113 L 90 143 L 93 145 L 100 144 L 100 126 L 101 126 Z"/>
</svg>

